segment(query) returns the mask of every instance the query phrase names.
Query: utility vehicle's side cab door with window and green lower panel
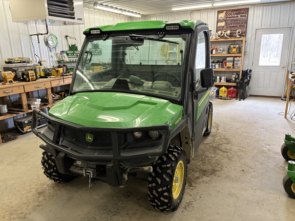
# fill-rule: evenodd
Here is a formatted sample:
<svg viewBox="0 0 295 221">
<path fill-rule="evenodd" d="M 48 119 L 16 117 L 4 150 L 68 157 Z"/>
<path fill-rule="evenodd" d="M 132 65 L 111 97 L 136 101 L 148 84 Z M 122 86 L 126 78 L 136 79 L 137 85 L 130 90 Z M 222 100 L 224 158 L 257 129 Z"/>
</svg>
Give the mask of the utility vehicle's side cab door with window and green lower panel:
<svg viewBox="0 0 295 221">
<path fill-rule="evenodd" d="M 209 90 L 201 86 L 201 71 L 210 68 L 210 39 L 207 26 L 199 26 L 195 32 L 195 56 L 191 61 L 195 92 L 193 93 L 194 117 L 194 152 L 198 149 L 203 133 L 206 129 L 208 109 L 209 109 Z M 193 51 L 193 50 L 192 50 Z"/>
</svg>

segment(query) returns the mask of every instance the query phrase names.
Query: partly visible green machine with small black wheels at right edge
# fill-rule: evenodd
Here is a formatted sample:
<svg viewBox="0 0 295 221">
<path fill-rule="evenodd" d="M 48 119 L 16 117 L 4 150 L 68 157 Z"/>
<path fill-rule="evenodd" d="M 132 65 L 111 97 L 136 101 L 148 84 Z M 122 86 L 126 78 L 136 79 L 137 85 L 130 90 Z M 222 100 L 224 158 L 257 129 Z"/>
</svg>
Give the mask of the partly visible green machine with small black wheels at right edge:
<svg viewBox="0 0 295 221">
<path fill-rule="evenodd" d="M 290 197 L 295 198 L 295 138 L 290 134 L 285 134 L 281 153 L 283 158 L 288 161 L 287 173 L 283 178 L 283 187 Z"/>
</svg>

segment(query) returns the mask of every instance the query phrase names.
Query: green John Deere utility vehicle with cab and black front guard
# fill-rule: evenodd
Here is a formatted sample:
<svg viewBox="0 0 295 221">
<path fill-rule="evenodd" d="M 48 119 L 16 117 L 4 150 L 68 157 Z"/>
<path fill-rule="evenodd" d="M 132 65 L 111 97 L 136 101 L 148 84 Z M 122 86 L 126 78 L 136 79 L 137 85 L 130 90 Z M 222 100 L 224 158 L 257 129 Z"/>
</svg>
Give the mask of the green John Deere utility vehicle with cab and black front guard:
<svg viewBox="0 0 295 221">
<path fill-rule="evenodd" d="M 70 96 L 49 115 L 33 111 L 33 132 L 46 143 L 45 175 L 54 182 L 87 176 L 90 187 L 145 178 L 150 204 L 175 211 L 187 164 L 212 127 L 207 24 L 139 21 L 83 34 Z M 44 132 L 36 128 L 38 115 L 48 120 Z"/>
</svg>

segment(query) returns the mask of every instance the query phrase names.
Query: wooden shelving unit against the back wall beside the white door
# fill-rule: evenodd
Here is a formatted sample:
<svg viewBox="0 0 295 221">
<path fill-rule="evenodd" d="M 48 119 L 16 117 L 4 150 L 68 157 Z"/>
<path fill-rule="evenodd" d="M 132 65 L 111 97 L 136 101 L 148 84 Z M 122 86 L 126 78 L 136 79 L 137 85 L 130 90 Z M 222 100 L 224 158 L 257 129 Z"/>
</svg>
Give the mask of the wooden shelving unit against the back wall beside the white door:
<svg viewBox="0 0 295 221">
<path fill-rule="evenodd" d="M 226 58 L 226 57 L 241 57 L 241 68 L 240 69 L 228 69 L 228 68 L 218 68 L 218 69 L 213 69 L 214 72 L 223 72 L 220 73 L 223 76 L 228 78 L 228 75 L 231 76 L 231 74 L 233 74 L 234 72 L 239 72 L 240 73 L 240 78 L 242 75 L 242 67 L 243 67 L 243 60 L 244 60 L 244 50 L 245 50 L 245 38 L 241 37 L 241 38 L 215 38 L 215 39 L 211 39 L 211 45 L 212 46 L 217 46 L 217 49 L 219 48 L 223 48 L 223 50 L 227 51 L 228 46 L 231 43 L 240 43 L 242 45 L 242 52 L 237 53 L 237 54 L 221 54 L 221 53 L 216 53 L 216 54 L 211 54 L 211 59 L 222 59 L 222 58 Z M 217 74 L 216 74 L 217 75 Z M 225 83 L 221 83 L 221 82 L 215 82 L 215 85 L 224 85 L 224 86 L 236 86 L 236 83 L 230 83 L 230 82 L 225 82 Z"/>
</svg>

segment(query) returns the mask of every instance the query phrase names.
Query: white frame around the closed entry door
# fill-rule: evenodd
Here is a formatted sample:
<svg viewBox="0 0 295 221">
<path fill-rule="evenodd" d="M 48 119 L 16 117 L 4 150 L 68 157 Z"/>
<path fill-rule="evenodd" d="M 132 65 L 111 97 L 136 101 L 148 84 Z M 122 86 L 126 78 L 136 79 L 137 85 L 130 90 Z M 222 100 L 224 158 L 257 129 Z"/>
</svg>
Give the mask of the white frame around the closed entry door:
<svg viewBox="0 0 295 221">
<path fill-rule="evenodd" d="M 253 41 L 253 46 L 252 46 L 252 50 L 253 52 L 251 53 L 251 70 L 254 70 L 253 69 L 253 60 L 254 60 L 254 49 L 255 49 L 255 42 L 256 42 L 256 35 L 257 35 L 257 30 L 264 30 L 264 29 L 281 29 L 281 28 L 290 28 L 290 36 L 289 36 L 289 41 L 291 42 L 292 41 L 292 37 L 293 37 L 293 27 L 292 26 L 285 26 L 285 27 L 269 27 L 269 28 L 256 28 L 255 29 L 255 34 L 252 36 L 254 37 L 254 41 Z M 247 37 L 246 37 L 247 38 Z M 247 39 L 246 39 L 247 40 Z M 290 60 L 290 52 L 292 51 L 291 49 L 292 47 L 288 47 L 288 50 L 287 50 L 287 60 L 286 60 L 286 68 L 285 68 L 285 71 L 284 71 L 284 78 L 286 78 L 286 72 L 287 70 L 290 68 L 292 68 L 292 64 L 289 63 L 289 60 Z M 255 71 L 255 70 L 254 70 Z M 284 94 L 285 94 L 285 90 L 286 90 L 286 80 L 284 80 L 284 84 L 283 84 L 283 89 L 282 89 L 282 98 L 284 97 Z M 250 82 L 250 85 L 249 85 L 249 89 L 248 89 L 248 96 L 250 95 L 250 90 L 251 90 L 251 82 Z"/>
</svg>

